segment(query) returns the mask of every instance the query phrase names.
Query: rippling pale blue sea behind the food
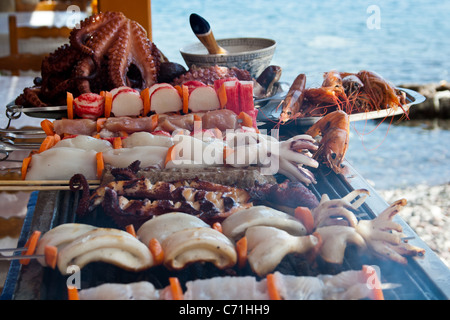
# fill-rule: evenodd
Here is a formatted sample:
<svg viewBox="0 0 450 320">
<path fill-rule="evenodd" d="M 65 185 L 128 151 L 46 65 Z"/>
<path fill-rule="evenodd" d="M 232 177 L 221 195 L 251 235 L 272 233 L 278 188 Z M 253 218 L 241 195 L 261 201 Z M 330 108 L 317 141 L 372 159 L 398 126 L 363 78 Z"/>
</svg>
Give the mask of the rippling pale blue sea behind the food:
<svg viewBox="0 0 450 320">
<path fill-rule="evenodd" d="M 305 73 L 319 85 L 332 69 L 376 71 L 396 85 L 450 80 L 450 1 L 153 1 L 153 42 L 183 65 L 179 49 L 198 42 L 191 13 L 217 39 L 276 40 L 272 64 L 284 82 Z M 347 160 L 378 189 L 450 182 L 448 126 L 409 124 L 352 124 Z"/>
</svg>

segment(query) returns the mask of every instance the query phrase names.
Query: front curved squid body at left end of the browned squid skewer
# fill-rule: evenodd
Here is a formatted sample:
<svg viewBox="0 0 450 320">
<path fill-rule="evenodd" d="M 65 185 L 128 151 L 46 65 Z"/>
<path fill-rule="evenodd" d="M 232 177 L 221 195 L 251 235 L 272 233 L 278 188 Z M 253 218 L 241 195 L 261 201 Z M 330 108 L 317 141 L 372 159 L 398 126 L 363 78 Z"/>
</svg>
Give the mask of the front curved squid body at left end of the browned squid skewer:
<svg viewBox="0 0 450 320">
<path fill-rule="evenodd" d="M 67 244 L 58 253 L 57 266 L 67 274 L 70 265 L 80 269 L 91 262 L 106 262 L 125 270 L 141 271 L 153 266 L 150 250 L 126 231 L 96 228 Z"/>
</svg>

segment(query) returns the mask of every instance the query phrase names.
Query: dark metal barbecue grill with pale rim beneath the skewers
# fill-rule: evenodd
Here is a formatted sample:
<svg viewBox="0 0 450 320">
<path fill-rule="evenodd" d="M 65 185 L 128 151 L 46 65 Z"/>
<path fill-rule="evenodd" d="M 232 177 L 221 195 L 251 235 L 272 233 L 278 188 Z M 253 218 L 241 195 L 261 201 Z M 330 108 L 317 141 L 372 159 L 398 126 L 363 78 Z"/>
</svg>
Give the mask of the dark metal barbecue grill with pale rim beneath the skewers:
<svg viewBox="0 0 450 320">
<path fill-rule="evenodd" d="M 342 198 L 353 190 L 367 189 L 370 197 L 358 209 L 356 216 L 358 219 L 373 219 L 377 213 L 388 207 L 388 204 L 350 163 L 345 161 L 344 165 L 348 168 L 345 175 L 337 175 L 327 168 L 315 171 L 317 184 L 311 187 L 312 191 L 320 199 L 322 194 L 328 194 L 330 198 Z M 63 223 L 80 222 L 100 227 L 117 227 L 102 212 L 102 209 L 97 209 L 82 219 L 78 218 L 75 211 L 79 198 L 78 192 L 39 192 L 36 203 L 30 204 L 32 208 L 25 219 L 18 245 L 23 246 L 34 230 L 44 233 Z M 32 210 L 33 206 L 34 210 Z M 374 257 L 361 257 L 352 254 L 351 249 L 347 249 L 343 270 L 359 269 L 362 264 L 377 265 L 381 271 L 379 275 L 381 282 L 395 284 L 391 289 L 384 290 L 386 300 L 449 299 L 450 270 L 401 217 L 396 216 L 394 221 L 402 225 L 407 237 L 412 238 L 411 244 L 425 249 L 423 257 L 408 258 L 407 265 L 400 265 Z M 299 265 L 296 257 L 288 255 L 278 268 L 284 273 L 308 275 L 308 268 Z M 235 270 L 235 272 L 237 272 L 236 275 L 250 274 L 250 270 L 245 269 Z M 225 275 L 230 275 L 230 270 L 218 270 L 207 263 L 193 264 L 177 272 L 160 266 L 145 272 L 134 273 L 98 262 L 91 263 L 82 269 L 81 287 L 94 287 L 107 282 L 130 283 L 146 280 L 152 282 L 157 288 L 163 288 L 168 285 L 168 279 L 171 276 L 178 277 L 183 285 L 188 280 Z M 13 261 L 2 299 L 65 300 L 67 299 L 67 276 L 62 276 L 57 270 L 44 268 L 37 261 L 32 260 L 29 265 L 21 265 L 18 261 Z"/>
</svg>

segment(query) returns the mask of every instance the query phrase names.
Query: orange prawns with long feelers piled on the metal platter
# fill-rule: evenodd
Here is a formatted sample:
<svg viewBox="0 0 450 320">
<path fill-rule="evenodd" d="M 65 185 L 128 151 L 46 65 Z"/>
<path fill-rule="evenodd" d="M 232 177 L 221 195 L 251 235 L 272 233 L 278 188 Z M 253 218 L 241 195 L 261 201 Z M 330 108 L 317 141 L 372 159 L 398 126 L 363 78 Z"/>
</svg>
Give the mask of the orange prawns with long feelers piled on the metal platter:
<svg viewBox="0 0 450 320">
<path fill-rule="evenodd" d="M 375 72 L 325 72 L 322 85 L 306 88 L 299 74 L 282 103 L 282 124 L 303 117 L 321 117 L 336 110 L 347 114 L 402 108 L 406 95 Z M 405 111 L 405 110 L 403 110 Z"/>
</svg>

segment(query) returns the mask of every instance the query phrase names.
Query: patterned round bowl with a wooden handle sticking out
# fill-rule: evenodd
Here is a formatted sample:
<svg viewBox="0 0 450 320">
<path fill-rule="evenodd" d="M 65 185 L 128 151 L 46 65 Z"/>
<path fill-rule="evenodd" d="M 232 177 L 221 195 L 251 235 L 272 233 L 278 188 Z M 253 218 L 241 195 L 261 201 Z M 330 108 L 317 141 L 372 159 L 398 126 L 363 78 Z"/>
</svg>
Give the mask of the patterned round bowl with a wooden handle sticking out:
<svg viewBox="0 0 450 320">
<path fill-rule="evenodd" d="M 189 68 L 192 65 L 237 67 L 249 71 L 256 78 L 270 65 L 276 48 L 275 40 L 264 38 L 220 39 L 217 44 L 228 54 L 209 54 L 201 42 L 181 48 L 180 53 Z"/>
</svg>

